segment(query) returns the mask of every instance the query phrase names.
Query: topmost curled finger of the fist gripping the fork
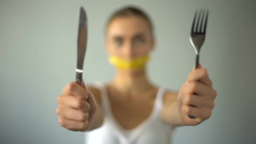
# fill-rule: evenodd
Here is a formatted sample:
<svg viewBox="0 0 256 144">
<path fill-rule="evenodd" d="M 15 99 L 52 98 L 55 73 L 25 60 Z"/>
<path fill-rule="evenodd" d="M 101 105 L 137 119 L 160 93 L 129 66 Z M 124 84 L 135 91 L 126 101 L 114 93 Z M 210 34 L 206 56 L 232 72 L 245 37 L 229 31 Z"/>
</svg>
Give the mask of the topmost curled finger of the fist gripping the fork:
<svg viewBox="0 0 256 144">
<path fill-rule="evenodd" d="M 207 69 L 194 69 L 187 77 L 187 80 L 189 82 L 191 81 L 200 81 L 204 83 L 205 85 L 208 85 L 209 87 L 213 86 L 212 81 L 210 80 L 210 77 L 208 75 Z"/>
</svg>

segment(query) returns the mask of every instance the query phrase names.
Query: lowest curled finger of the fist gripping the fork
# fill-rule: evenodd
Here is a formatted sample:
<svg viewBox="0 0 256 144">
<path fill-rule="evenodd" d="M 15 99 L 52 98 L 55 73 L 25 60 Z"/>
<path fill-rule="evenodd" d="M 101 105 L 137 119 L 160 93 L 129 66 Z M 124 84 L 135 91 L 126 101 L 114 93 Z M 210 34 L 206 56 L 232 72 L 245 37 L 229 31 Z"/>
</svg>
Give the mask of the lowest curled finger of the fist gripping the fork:
<svg viewBox="0 0 256 144">
<path fill-rule="evenodd" d="M 202 120 L 206 120 L 211 116 L 210 109 L 200 109 L 189 105 L 184 105 L 183 111 L 186 115 L 193 115 L 194 117 L 201 118 Z"/>
</svg>

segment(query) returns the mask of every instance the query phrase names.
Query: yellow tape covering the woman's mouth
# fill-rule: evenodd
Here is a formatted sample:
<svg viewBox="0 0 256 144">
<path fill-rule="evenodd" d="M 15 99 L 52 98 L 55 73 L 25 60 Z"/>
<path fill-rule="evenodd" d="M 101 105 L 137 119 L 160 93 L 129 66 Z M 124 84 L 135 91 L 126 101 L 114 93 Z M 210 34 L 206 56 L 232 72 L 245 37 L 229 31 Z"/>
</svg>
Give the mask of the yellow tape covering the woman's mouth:
<svg viewBox="0 0 256 144">
<path fill-rule="evenodd" d="M 109 57 L 109 62 L 112 65 L 115 65 L 118 69 L 141 69 L 144 67 L 144 65 L 148 62 L 149 60 L 149 56 L 145 55 L 145 56 L 141 56 L 139 58 L 136 59 L 132 59 L 132 60 L 125 60 L 125 59 L 121 59 L 118 58 L 117 56 L 110 56 Z"/>
</svg>

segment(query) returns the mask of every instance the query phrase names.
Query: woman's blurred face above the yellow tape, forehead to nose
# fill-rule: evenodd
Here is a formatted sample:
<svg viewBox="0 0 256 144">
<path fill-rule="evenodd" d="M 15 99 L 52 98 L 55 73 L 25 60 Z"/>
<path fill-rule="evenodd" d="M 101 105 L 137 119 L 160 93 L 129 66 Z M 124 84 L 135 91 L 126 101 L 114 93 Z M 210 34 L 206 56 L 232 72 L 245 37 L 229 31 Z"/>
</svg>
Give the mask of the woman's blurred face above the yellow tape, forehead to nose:
<svg viewBox="0 0 256 144">
<path fill-rule="evenodd" d="M 154 48 L 149 23 L 139 16 L 115 18 L 106 31 L 106 49 L 111 56 L 131 60 Z"/>
</svg>

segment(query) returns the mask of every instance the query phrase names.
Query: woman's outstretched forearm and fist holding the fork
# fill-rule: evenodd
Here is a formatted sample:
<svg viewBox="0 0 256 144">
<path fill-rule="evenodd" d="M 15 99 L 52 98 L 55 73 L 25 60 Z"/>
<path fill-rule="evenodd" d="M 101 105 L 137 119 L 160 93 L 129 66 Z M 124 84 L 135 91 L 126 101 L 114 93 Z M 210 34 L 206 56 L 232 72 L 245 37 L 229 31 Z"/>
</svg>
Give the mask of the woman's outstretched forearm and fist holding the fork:
<svg viewBox="0 0 256 144">
<path fill-rule="evenodd" d="M 216 96 L 207 70 L 199 65 L 190 72 L 179 93 L 166 94 L 161 118 L 174 126 L 200 124 L 212 115 Z"/>
</svg>

